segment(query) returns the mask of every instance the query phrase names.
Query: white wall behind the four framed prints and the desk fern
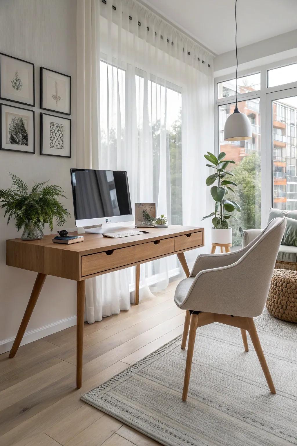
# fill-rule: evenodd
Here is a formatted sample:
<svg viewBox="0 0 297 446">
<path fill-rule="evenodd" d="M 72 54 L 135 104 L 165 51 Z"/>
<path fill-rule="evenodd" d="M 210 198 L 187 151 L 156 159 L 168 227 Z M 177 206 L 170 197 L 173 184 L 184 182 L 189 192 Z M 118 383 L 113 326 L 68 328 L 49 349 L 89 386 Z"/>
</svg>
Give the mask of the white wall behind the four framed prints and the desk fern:
<svg viewBox="0 0 297 446">
<path fill-rule="evenodd" d="M 75 227 L 70 188 L 70 167 L 76 166 L 76 0 L 0 0 L 0 52 L 35 64 L 36 107 L 16 106 L 35 110 L 35 154 L 0 151 L 0 187 L 10 186 L 8 172 L 16 173 L 33 186 L 33 181 L 50 180 L 65 190 L 71 212 L 66 228 Z M 71 158 L 47 157 L 40 150 L 39 67 L 44 66 L 71 76 Z M 0 100 L 1 103 L 8 103 Z M 13 105 L 13 104 L 12 104 Z M 48 113 L 48 112 L 47 112 Z M 0 211 L 0 353 L 11 347 L 36 273 L 6 266 L 5 240 L 20 237 L 13 222 L 7 226 Z M 57 232 L 57 228 L 54 228 Z M 49 234 L 48 227 L 45 234 Z M 75 323 L 76 284 L 47 277 L 31 321 L 30 342 Z M 62 324 L 58 321 L 66 319 Z M 56 324 L 56 325 L 55 325 Z M 38 330 L 47 326 L 44 330 Z M 33 332 L 32 332 L 33 330 Z M 36 332 L 34 330 L 37 330 Z"/>
</svg>

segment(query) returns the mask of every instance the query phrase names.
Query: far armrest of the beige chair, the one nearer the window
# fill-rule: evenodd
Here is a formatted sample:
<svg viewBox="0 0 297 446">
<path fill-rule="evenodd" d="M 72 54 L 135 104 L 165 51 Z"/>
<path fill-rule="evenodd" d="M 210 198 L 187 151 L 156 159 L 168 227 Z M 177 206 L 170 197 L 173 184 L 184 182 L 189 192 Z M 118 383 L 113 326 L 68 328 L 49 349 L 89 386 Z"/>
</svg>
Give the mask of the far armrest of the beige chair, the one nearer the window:
<svg viewBox="0 0 297 446">
<path fill-rule="evenodd" d="M 197 276 L 204 269 L 220 268 L 237 262 L 246 252 L 245 248 L 226 254 L 200 254 L 195 260 L 190 277 Z"/>
</svg>

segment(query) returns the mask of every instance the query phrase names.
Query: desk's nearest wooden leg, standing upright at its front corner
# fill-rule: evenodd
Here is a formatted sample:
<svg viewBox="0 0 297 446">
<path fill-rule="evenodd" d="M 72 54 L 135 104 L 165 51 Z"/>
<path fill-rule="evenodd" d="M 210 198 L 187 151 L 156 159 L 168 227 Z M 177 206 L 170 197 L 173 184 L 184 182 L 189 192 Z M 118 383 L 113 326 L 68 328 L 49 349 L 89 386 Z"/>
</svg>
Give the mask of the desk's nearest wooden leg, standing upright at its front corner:
<svg viewBox="0 0 297 446">
<path fill-rule="evenodd" d="M 85 281 L 77 282 L 76 313 L 76 387 L 82 385 L 82 351 L 84 343 Z"/>
</svg>

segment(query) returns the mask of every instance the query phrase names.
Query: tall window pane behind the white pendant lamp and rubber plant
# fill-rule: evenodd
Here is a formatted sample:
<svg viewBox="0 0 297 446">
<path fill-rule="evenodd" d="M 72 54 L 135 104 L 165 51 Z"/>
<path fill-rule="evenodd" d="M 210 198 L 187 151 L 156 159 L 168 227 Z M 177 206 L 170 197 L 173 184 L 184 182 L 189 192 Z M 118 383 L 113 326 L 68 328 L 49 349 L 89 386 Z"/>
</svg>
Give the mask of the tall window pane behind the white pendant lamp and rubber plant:
<svg viewBox="0 0 297 446">
<path fill-rule="evenodd" d="M 241 206 L 242 211 L 233 213 L 238 222 L 230 219 L 228 224 L 233 228 L 233 246 L 240 246 L 240 227 L 244 229 L 261 227 L 260 99 L 238 101 L 239 111 L 245 113 L 252 123 L 251 140 L 224 141 L 224 124 L 234 107 L 235 103 L 219 105 L 219 150 L 226 153 L 227 159 L 236 162 L 236 164 L 229 164 L 228 170 L 234 173 L 234 177 L 230 178 L 238 184 L 235 188 L 234 199 Z"/>
</svg>

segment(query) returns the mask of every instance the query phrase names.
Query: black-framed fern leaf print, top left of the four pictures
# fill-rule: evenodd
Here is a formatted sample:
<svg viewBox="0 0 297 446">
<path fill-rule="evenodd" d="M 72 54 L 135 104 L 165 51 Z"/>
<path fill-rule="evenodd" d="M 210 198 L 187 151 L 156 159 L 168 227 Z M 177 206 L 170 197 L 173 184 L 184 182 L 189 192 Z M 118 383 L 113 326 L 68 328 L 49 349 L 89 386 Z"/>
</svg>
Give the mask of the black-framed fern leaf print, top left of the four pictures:
<svg viewBox="0 0 297 446">
<path fill-rule="evenodd" d="M 33 62 L 0 53 L 0 99 L 35 107 Z"/>
</svg>

